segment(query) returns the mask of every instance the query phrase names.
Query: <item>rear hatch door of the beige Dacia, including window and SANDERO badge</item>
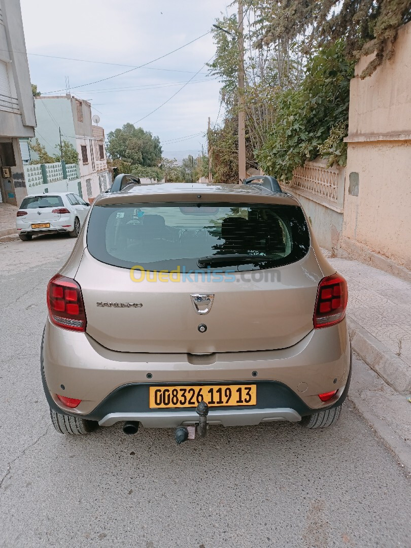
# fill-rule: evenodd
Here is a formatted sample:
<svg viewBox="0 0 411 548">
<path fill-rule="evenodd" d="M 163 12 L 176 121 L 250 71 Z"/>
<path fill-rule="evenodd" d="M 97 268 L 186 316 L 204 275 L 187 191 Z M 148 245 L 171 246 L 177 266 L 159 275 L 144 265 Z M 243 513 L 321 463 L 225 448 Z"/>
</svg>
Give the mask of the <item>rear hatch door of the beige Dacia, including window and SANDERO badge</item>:
<svg viewBox="0 0 411 548">
<path fill-rule="evenodd" d="M 304 338 L 322 273 L 302 210 L 234 206 L 192 216 L 164 204 L 94 207 L 76 274 L 88 334 L 124 352 L 272 350 Z"/>
</svg>

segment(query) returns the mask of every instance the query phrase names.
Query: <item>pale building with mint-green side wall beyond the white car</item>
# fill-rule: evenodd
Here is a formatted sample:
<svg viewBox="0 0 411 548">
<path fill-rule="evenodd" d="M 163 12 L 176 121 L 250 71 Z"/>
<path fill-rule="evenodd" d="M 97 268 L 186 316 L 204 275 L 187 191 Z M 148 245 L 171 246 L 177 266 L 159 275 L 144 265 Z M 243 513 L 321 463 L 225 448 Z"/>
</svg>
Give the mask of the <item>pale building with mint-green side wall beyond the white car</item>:
<svg viewBox="0 0 411 548">
<path fill-rule="evenodd" d="M 61 139 L 71 142 L 79 156 L 79 193 L 90 202 L 111 186 L 107 170 L 104 129 L 93 125 L 88 101 L 70 94 L 36 97 L 36 138 L 49 155 L 58 153 Z M 31 152 L 32 157 L 36 156 Z"/>
</svg>

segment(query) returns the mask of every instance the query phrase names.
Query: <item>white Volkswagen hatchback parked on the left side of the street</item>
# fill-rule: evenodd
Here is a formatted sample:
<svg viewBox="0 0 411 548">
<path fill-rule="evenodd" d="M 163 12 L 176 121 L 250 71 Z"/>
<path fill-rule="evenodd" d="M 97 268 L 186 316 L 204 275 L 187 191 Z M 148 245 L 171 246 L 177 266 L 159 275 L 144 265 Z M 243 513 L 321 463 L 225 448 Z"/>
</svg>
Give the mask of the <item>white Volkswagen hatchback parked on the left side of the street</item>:
<svg viewBox="0 0 411 548">
<path fill-rule="evenodd" d="M 26 242 L 44 232 L 68 232 L 77 238 L 90 204 L 72 192 L 26 196 L 17 212 L 16 229 Z"/>
</svg>

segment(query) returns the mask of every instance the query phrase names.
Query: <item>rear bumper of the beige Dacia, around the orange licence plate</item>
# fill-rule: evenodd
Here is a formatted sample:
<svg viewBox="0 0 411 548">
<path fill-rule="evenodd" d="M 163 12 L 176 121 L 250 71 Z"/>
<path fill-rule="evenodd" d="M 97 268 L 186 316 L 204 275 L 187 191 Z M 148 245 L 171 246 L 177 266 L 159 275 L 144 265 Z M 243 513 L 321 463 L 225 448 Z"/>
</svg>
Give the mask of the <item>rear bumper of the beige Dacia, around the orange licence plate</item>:
<svg viewBox="0 0 411 548">
<path fill-rule="evenodd" d="M 68 332 L 49 320 L 42 341 L 43 385 L 50 407 L 104 425 L 122 420 L 138 420 L 144 426 L 156 427 L 196 422 L 194 409 L 150 410 L 149 386 L 156 384 L 258 386 L 257 406 L 212 408 L 210 423 L 239 426 L 267 420 L 300 420 L 301 416 L 343 401 L 350 363 L 345 320 L 312 330 L 288 349 L 211 356 L 116 352 L 87 334 Z M 152 375 L 150 381 L 148 373 Z M 333 390 L 338 392 L 327 403 L 317 396 Z M 82 402 L 75 409 L 66 408 L 57 398 L 58 393 Z"/>
</svg>

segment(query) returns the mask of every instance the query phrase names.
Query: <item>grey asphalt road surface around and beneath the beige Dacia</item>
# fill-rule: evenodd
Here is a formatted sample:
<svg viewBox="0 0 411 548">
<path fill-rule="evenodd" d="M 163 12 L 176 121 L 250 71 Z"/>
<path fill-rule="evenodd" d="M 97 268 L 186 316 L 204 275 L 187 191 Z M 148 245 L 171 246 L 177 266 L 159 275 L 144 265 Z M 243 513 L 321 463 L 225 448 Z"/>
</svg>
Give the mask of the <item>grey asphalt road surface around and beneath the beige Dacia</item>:
<svg viewBox="0 0 411 548">
<path fill-rule="evenodd" d="M 349 401 L 324 431 L 214 426 L 180 447 L 171 430 L 59 435 L 39 352 L 73 243 L 0 244 L 1 547 L 411 546 L 409 480 Z"/>
</svg>

